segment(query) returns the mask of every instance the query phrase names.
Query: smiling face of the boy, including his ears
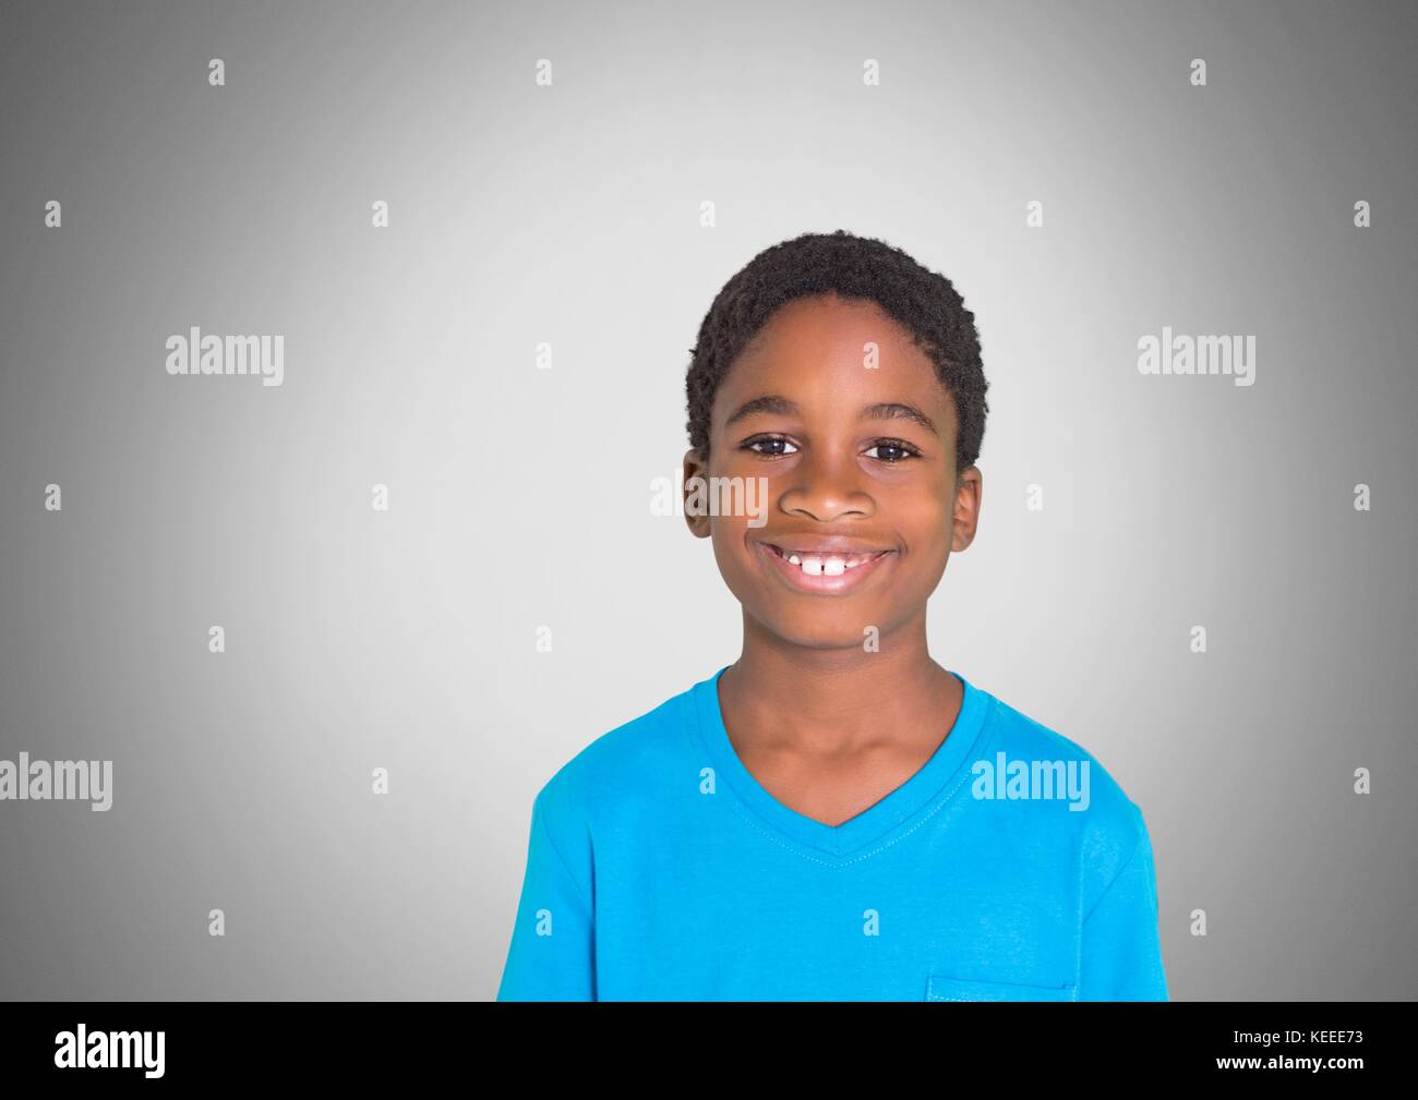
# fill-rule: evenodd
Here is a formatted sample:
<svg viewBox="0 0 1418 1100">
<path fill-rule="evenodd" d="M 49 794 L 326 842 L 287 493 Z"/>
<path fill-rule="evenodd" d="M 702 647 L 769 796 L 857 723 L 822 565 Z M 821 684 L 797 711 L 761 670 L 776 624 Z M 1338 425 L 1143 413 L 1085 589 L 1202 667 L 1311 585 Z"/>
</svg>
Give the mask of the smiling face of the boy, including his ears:
<svg viewBox="0 0 1418 1100">
<path fill-rule="evenodd" d="M 713 539 L 725 583 L 764 629 L 861 646 L 869 627 L 886 635 L 923 618 L 951 550 L 974 539 L 980 471 L 956 471 L 956 432 L 934 363 L 875 302 L 790 302 L 719 384 L 708 466 L 685 455 L 689 529 Z M 767 492 L 749 488 L 733 515 L 695 516 L 692 478 L 763 478 Z"/>
</svg>

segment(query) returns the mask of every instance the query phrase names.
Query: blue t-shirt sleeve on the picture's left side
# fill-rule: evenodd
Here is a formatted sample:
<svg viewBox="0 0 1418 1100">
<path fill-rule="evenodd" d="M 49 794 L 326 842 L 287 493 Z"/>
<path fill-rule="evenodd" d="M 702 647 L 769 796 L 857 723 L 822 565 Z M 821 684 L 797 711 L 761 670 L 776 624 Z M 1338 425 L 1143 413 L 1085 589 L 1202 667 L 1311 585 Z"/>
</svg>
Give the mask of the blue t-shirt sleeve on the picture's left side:
<svg viewBox="0 0 1418 1100">
<path fill-rule="evenodd" d="M 532 802 L 526 875 L 498 1001 L 594 1001 L 590 883 L 571 873 L 552 839 L 545 794 Z"/>
</svg>

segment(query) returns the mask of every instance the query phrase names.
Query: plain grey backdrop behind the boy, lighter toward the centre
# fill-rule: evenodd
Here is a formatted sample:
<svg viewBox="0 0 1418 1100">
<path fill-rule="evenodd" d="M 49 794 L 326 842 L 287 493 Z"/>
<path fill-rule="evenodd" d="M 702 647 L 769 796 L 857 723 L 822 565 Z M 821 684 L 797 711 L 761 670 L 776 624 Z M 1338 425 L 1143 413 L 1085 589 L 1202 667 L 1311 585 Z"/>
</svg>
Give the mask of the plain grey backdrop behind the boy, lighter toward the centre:
<svg viewBox="0 0 1418 1100">
<path fill-rule="evenodd" d="M 0 802 L 0 994 L 493 997 L 533 794 L 739 652 L 648 506 L 703 312 L 844 227 L 976 310 L 984 510 L 932 651 L 1141 805 L 1173 997 L 1412 997 L 1415 30 L 6 4 L 0 757 L 112 758 L 115 802 Z M 285 386 L 169 377 L 193 325 L 284 333 Z M 1254 333 L 1256 384 L 1141 377 L 1163 325 Z"/>
</svg>

